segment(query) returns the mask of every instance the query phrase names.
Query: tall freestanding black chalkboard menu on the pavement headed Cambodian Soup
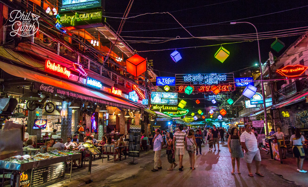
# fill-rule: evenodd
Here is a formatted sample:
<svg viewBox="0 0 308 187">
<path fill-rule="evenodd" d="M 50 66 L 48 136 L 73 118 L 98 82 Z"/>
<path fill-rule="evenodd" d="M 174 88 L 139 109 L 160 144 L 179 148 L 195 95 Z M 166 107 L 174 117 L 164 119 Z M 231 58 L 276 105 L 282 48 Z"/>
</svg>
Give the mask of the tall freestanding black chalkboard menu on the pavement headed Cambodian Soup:
<svg viewBox="0 0 308 187">
<path fill-rule="evenodd" d="M 139 157 L 141 126 L 131 125 L 129 127 L 129 151 L 128 156 Z"/>
</svg>

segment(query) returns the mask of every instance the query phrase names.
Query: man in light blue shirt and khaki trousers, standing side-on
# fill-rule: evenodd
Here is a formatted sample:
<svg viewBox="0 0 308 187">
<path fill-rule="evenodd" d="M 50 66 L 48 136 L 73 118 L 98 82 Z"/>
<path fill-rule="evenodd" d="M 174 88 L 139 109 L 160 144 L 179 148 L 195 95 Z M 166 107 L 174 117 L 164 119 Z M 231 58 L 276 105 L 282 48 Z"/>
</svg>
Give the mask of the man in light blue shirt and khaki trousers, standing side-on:
<svg viewBox="0 0 308 187">
<path fill-rule="evenodd" d="M 161 146 L 164 144 L 164 141 L 160 132 L 160 129 L 155 129 L 155 136 L 153 138 L 153 151 L 155 152 L 154 168 L 151 171 L 158 171 L 161 169 Z"/>
</svg>

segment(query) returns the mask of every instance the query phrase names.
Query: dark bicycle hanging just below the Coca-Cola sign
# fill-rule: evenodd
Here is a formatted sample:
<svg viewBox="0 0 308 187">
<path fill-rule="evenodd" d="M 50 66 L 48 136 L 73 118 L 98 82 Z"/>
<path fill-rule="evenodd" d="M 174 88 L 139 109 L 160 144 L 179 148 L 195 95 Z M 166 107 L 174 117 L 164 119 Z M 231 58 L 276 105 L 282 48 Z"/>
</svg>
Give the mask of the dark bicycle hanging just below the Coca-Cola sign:
<svg viewBox="0 0 308 187">
<path fill-rule="evenodd" d="M 44 104 L 46 102 L 46 104 Z M 27 101 L 26 108 L 30 111 L 34 111 L 36 108 L 45 108 L 47 113 L 53 113 L 55 105 L 49 101 L 49 95 L 46 95 L 41 101 Z"/>
</svg>

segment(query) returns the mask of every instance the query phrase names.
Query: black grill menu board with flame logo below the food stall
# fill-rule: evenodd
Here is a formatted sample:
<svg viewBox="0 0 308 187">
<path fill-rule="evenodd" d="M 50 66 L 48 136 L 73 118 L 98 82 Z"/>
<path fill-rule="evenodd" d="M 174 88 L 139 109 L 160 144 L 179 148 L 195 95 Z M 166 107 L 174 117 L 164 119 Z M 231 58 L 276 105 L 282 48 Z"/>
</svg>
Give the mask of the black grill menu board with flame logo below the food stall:
<svg viewBox="0 0 308 187">
<path fill-rule="evenodd" d="M 21 173 L 20 186 L 40 186 L 64 178 L 65 163 L 60 162 L 40 168 L 26 170 Z"/>
</svg>

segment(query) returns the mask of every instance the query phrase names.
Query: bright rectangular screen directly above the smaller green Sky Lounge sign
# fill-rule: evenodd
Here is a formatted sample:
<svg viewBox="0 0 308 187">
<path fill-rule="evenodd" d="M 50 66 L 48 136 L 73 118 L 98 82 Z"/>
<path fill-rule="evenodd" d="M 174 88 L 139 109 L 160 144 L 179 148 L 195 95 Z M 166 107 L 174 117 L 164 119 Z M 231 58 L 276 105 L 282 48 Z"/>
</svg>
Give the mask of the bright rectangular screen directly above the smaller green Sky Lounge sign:
<svg viewBox="0 0 308 187">
<path fill-rule="evenodd" d="M 178 104 L 178 93 L 176 92 L 152 92 L 151 104 Z"/>
</svg>

